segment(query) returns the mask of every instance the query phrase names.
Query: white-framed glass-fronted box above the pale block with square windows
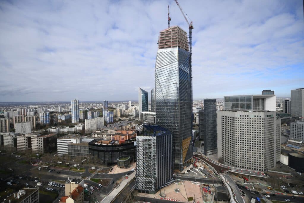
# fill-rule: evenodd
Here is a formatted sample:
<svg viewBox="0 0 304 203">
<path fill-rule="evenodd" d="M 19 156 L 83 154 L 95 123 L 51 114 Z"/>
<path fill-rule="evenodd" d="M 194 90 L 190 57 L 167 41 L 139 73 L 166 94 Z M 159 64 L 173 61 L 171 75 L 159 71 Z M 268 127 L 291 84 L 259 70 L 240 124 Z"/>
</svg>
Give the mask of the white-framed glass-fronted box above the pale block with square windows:
<svg viewBox="0 0 304 203">
<path fill-rule="evenodd" d="M 276 111 L 275 95 L 224 96 L 225 110 Z"/>
</svg>

